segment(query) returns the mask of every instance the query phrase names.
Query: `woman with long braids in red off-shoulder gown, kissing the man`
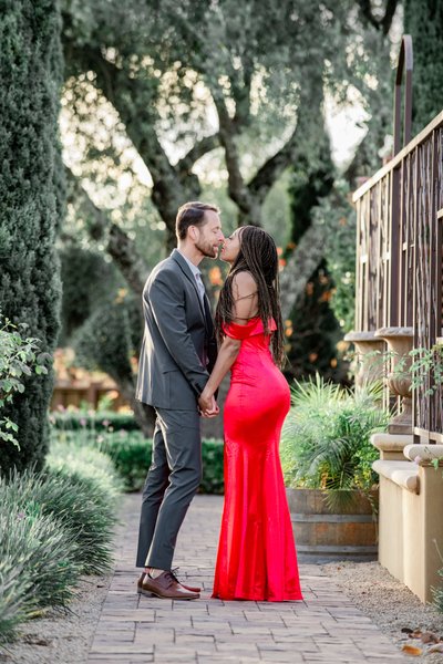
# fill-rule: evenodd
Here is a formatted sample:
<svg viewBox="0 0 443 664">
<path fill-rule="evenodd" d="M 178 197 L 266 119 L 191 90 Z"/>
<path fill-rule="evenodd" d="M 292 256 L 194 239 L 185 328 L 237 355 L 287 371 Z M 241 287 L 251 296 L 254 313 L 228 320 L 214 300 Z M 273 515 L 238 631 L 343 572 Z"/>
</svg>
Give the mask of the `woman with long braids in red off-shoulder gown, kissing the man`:
<svg viewBox="0 0 443 664">
<path fill-rule="evenodd" d="M 279 459 L 289 387 L 278 369 L 284 333 L 278 256 L 261 228 L 245 226 L 225 240 L 230 263 L 216 312 L 217 363 L 202 393 L 213 396 L 231 369 L 225 403 L 225 505 L 214 598 L 301 600 L 292 527 Z"/>
</svg>

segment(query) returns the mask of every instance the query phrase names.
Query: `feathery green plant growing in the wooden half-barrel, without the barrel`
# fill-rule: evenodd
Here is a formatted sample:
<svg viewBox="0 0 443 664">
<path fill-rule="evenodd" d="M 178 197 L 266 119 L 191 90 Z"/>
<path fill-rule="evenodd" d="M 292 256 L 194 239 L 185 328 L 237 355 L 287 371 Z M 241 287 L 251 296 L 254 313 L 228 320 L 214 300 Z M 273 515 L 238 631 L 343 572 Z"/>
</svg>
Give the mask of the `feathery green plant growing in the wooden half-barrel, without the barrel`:
<svg viewBox="0 0 443 664">
<path fill-rule="evenodd" d="M 296 383 L 281 437 L 281 464 L 288 486 L 330 491 L 369 491 L 378 453 L 370 435 L 388 425 L 378 392 L 344 390 L 320 376 Z"/>
</svg>

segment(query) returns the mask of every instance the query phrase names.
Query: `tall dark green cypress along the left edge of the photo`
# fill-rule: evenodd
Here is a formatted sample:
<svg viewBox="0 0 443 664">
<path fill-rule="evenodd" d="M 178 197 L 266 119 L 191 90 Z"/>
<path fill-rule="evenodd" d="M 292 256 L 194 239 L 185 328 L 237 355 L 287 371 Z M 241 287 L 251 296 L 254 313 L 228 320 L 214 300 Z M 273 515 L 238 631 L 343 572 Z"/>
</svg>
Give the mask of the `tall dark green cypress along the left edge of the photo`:
<svg viewBox="0 0 443 664">
<path fill-rule="evenodd" d="M 59 332 L 60 29 L 56 0 L 0 0 L 0 307 L 48 353 Z M 2 474 L 41 467 L 48 447 L 51 372 L 24 383 L 6 413 L 20 427 L 20 450 L 2 446 Z"/>
</svg>

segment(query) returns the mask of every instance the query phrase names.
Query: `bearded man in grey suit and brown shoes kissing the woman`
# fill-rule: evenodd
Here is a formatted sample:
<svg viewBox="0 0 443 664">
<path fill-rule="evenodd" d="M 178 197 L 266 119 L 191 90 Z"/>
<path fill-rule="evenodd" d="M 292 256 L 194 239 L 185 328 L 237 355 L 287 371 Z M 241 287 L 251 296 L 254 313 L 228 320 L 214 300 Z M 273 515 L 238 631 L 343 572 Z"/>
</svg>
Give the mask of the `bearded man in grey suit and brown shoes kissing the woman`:
<svg viewBox="0 0 443 664">
<path fill-rule="evenodd" d="M 209 303 L 198 264 L 216 258 L 223 241 L 219 210 L 186 203 L 176 218 L 177 249 L 151 272 L 143 291 L 145 332 L 136 398 L 154 406 L 152 465 L 143 490 L 137 590 L 159 598 L 192 600 L 172 572 L 175 542 L 202 480 L 198 397 L 217 355 Z M 214 416 L 213 401 L 206 408 Z"/>
</svg>

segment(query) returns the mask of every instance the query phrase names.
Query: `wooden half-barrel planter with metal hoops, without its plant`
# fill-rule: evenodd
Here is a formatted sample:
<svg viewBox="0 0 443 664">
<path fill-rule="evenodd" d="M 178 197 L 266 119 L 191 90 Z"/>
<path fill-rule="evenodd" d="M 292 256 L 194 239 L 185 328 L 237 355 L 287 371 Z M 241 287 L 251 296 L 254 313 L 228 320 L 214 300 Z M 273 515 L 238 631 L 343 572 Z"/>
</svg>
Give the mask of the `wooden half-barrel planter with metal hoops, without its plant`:
<svg viewBox="0 0 443 664">
<path fill-rule="evenodd" d="M 377 520 L 370 500 L 359 491 L 341 509 L 331 510 L 326 491 L 286 489 L 301 562 L 377 560 Z M 377 504 L 378 491 L 372 499 Z"/>
</svg>

